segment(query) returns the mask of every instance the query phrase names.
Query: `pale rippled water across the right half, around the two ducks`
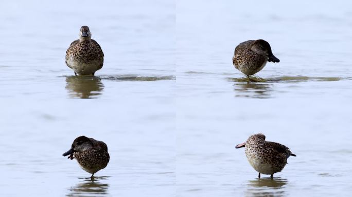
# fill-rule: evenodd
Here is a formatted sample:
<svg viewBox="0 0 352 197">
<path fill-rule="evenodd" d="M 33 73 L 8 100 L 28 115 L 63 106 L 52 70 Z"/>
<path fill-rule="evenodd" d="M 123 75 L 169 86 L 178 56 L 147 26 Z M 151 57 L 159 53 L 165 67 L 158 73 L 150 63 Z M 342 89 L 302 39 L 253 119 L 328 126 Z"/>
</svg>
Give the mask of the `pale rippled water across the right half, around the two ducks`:
<svg viewBox="0 0 352 197">
<path fill-rule="evenodd" d="M 350 195 L 350 6 L 178 1 L 180 196 Z M 259 38 L 280 62 L 249 82 L 231 59 Z M 297 155 L 273 180 L 235 149 L 258 132 Z"/>
</svg>

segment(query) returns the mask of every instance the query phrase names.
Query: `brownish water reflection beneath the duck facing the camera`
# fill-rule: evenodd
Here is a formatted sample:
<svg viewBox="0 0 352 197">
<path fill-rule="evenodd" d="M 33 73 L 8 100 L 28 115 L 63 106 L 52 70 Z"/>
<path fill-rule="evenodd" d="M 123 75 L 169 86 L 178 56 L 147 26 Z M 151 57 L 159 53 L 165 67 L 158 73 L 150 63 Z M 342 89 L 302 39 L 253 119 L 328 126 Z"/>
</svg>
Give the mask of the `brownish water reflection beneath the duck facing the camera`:
<svg viewBox="0 0 352 197">
<path fill-rule="evenodd" d="M 91 99 L 93 96 L 100 95 L 104 88 L 99 77 L 94 76 L 68 76 L 66 77 L 66 90 L 71 97 L 81 99 Z"/>
</svg>

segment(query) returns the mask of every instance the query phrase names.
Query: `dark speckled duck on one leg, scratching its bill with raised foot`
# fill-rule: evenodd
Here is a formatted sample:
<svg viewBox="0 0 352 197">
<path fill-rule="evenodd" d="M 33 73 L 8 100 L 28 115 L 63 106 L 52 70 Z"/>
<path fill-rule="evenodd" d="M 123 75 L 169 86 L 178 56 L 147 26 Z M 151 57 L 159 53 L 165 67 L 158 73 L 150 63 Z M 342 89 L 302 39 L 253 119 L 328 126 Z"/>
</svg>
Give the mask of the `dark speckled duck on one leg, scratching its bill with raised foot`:
<svg viewBox="0 0 352 197">
<path fill-rule="evenodd" d="M 92 179 L 94 173 L 107 167 L 110 160 L 108 146 L 86 136 L 77 137 L 72 143 L 71 149 L 62 154 L 62 156 L 67 155 L 69 155 L 68 159 L 76 159 L 83 170 L 91 173 Z"/>
</svg>

